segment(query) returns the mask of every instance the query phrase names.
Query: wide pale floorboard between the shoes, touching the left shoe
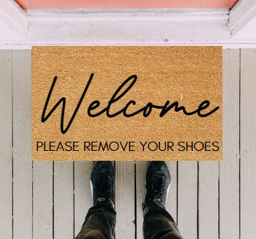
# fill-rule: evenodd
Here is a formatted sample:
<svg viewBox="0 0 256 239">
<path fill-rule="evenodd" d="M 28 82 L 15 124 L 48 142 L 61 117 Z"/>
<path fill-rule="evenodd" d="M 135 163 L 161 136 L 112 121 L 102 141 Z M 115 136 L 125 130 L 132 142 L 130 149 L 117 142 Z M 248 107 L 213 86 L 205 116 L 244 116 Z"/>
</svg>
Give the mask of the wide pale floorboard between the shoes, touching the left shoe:
<svg viewBox="0 0 256 239">
<path fill-rule="evenodd" d="M 115 237 L 135 238 L 135 162 L 115 162 Z"/>
</svg>

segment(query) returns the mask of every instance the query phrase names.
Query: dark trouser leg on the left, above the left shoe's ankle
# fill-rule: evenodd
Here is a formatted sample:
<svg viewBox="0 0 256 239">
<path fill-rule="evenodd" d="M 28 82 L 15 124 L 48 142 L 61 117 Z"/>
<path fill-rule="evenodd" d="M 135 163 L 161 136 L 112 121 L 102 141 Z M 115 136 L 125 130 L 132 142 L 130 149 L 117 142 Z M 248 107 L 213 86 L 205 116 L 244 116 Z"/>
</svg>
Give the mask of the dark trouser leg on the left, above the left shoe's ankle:
<svg viewBox="0 0 256 239">
<path fill-rule="evenodd" d="M 81 231 L 75 239 L 112 239 L 115 235 L 115 210 L 111 206 L 96 205 L 89 209 Z"/>
</svg>

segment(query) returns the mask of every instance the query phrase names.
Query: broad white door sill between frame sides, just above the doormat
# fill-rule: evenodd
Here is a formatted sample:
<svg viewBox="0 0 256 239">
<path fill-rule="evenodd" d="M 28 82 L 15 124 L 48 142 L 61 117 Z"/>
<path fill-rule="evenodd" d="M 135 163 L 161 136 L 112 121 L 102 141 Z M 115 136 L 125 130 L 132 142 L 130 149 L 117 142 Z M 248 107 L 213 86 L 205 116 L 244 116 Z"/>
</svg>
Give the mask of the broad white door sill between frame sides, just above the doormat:
<svg viewBox="0 0 256 239">
<path fill-rule="evenodd" d="M 201 11 L 30 15 L 33 44 L 202 44 L 230 38 L 228 14 Z"/>
</svg>

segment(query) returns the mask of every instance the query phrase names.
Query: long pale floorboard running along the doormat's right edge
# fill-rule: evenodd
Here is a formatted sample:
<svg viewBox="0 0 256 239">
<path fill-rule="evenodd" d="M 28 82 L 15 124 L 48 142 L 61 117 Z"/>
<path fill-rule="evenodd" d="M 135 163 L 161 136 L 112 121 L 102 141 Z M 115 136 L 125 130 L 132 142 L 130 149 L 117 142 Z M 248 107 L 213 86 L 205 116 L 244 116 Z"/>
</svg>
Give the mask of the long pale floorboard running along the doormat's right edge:
<svg viewBox="0 0 256 239">
<path fill-rule="evenodd" d="M 220 239 L 239 238 L 240 51 L 223 54 L 223 159 L 220 162 Z"/>
</svg>

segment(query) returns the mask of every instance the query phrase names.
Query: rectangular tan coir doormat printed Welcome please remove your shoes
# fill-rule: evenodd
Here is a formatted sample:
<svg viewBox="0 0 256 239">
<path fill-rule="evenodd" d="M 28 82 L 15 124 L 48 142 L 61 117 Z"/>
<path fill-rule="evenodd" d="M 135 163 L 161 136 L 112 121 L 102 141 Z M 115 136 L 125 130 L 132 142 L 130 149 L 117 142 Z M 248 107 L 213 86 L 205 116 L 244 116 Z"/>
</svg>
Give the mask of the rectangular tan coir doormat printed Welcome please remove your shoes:
<svg viewBox="0 0 256 239">
<path fill-rule="evenodd" d="M 221 157 L 221 47 L 32 47 L 33 160 Z"/>
</svg>

